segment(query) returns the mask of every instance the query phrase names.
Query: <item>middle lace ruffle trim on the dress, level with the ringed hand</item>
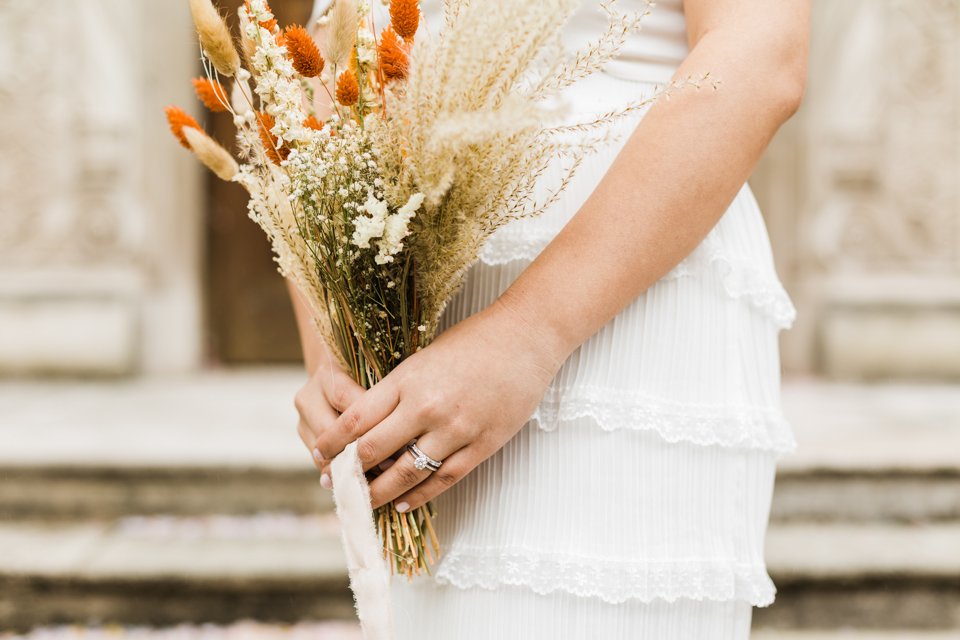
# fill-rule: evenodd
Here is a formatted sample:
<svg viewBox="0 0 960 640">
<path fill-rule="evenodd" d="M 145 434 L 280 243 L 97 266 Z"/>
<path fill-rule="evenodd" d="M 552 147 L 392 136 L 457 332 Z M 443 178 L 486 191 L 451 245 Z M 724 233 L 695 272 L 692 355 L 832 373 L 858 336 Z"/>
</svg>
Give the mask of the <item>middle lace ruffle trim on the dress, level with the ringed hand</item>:
<svg viewBox="0 0 960 640">
<path fill-rule="evenodd" d="M 762 407 L 666 402 L 613 389 L 549 389 L 530 417 L 544 431 L 588 418 L 604 431 L 653 431 L 665 441 L 788 454 L 796 447 L 783 413 Z"/>
</svg>

